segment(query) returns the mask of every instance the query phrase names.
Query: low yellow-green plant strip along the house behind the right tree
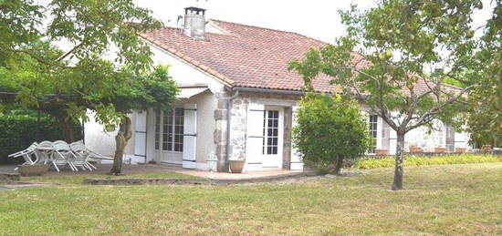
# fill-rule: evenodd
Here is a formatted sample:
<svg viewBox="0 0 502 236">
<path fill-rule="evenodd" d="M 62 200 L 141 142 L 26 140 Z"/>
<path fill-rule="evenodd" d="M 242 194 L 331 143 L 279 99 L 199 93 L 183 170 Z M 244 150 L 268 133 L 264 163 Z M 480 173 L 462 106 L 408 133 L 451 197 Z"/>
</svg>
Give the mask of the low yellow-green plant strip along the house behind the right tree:
<svg viewBox="0 0 502 236">
<path fill-rule="evenodd" d="M 470 164 L 470 163 L 491 163 L 502 162 L 500 157 L 480 154 L 444 155 L 438 157 L 408 156 L 404 159 L 404 166 L 428 166 L 428 165 L 448 165 L 448 164 Z M 393 157 L 379 159 L 360 159 L 353 168 L 375 169 L 392 168 L 395 164 Z"/>
</svg>

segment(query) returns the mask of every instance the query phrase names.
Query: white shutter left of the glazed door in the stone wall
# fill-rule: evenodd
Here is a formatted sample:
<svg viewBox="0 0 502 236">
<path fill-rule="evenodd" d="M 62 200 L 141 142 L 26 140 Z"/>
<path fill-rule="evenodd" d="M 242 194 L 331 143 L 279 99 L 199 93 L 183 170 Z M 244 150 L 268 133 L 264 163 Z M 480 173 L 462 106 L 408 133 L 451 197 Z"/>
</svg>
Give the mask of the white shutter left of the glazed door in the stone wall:
<svg viewBox="0 0 502 236">
<path fill-rule="evenodd" d="M 260 170 L 263 164 L 263 118 L 265 106 L 249 103 L 246 124 L 246 170 Z"/>
</svg>

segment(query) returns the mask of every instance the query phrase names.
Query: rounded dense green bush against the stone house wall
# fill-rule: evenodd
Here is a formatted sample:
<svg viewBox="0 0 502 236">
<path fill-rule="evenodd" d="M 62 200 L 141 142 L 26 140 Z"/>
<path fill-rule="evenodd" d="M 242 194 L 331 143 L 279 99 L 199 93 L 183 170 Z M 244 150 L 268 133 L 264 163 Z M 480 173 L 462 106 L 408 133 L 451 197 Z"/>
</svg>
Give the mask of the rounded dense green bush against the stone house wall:
<svg viewBox="0 0 502 236">
<path fill-rule="evenodd" d="M 368 124 L 355 100 L 309 94 L 299 104 L 293 139 L 306 165 L 338 174 L 344 159 L 357 159 L 370 147 Z"/>
</svg>

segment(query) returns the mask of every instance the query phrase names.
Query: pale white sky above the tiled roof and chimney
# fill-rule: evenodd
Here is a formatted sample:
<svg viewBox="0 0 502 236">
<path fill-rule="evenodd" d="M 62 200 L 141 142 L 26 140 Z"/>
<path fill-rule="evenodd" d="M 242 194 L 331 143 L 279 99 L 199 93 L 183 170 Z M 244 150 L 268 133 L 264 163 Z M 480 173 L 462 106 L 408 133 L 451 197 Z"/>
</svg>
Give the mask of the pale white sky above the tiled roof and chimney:
<svg viewBox="0 0 502 236">
<path fill-rule="evenodd" d="M 219 19 L 251 26 L 297 32 L 332 43 L 342 36 L 345 27 L 340 23 L 338 10 L 350 4 L 367 9 L 378 0 L 134 0 L 136 5 L 149 8 L 166 26 L 176 23 L 183 8 L 199 6 L 207 9 L 206 19 Z M 480 26 L 490 16 L 491 0 L 483 0 L 482 11 L 474 15 L 474 26 Z M 171 20 L 169 23 L 168 21 Z M 172 25 L 171 25 L 172 26 Z"/>
</svg>

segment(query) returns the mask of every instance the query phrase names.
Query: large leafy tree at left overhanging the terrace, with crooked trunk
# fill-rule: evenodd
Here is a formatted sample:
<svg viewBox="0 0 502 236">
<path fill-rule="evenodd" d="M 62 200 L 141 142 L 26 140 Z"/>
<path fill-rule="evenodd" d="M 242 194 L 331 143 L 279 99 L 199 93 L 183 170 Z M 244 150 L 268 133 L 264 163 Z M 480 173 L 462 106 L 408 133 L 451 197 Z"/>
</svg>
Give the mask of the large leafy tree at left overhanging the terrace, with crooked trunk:
<svg viewBox="0 0 502 236">
<path fill-rule="evenodd" d="M 152 52 L 139 37 L 162 26 L 151 14 L 131 0 L 0 1 L 0 87 L 16 95 L 3 98 L 57 117 L 68 141 L 68 120 L 86 121 L 88 110 L 118 125 L 111 173 L 120 174 L 127 115 L 169 108 L 177 92 L 167 67 L 151 73 Z"/>
</svg>

